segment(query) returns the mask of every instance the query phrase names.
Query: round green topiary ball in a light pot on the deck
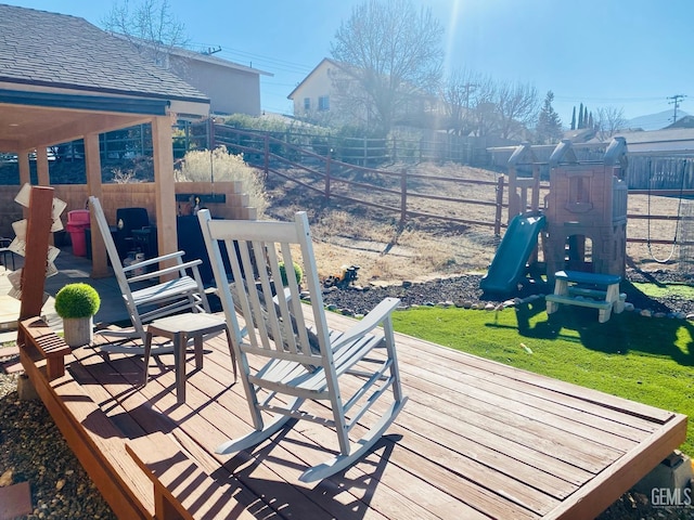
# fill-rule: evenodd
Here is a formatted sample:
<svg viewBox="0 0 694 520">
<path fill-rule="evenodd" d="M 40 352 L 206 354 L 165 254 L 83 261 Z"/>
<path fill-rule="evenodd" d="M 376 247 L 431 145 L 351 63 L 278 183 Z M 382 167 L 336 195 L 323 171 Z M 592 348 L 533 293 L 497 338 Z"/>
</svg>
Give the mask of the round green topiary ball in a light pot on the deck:
<svg viewBox="0 0 694 520">
<path fill-rule="evenodd" d="M 67 284 L 55 295 L 55 312 L 63 318 L 65 342 L 70 347 L 89 344 L 94 339 L 94 314 L 99 292 L 89 284 Z"/>
</svg>

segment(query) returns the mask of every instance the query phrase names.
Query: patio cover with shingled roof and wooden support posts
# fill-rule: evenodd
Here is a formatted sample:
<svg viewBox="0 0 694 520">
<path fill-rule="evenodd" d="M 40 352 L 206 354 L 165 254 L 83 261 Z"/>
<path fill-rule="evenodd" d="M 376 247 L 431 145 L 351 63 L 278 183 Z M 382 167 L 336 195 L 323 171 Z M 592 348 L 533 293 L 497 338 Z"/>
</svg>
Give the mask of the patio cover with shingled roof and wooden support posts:
<svg viewBox="0 0 694 520">
<path fill-rule="evenodd" d="M 0 153 L 17 154 L 20 182 L 50 185 L 47 147 L 85 140 L 89 194 L 101 197 L 99 134 L 152 125 L 158 250 L 176 249 L 171 123 L 209 115 L 209 99 L 121 38 L 83 18 L 0 4 Z M 107 273 L 92 234 L 93 276 Z"/>
</svg>

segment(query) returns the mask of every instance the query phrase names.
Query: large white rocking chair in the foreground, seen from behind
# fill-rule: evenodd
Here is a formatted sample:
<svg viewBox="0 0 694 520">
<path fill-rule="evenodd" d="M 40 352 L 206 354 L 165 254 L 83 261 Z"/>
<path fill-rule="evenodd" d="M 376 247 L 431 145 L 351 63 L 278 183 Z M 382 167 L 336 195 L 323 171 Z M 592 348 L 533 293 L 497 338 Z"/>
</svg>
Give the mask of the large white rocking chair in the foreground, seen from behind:
<svg viewBox="0 0 694 520">
<path fill-rule="evenodd" d="M 407 401 L 390 320 L 400 300 L 386 298 L 346 333 L 331 332 L 305 212 L 296 213 L 294 222 L 211 220 L 207 210 L 200 211 L 198 218 L 255 426 L 247 435 L 218 446 L 217 453 L 249 448 L 287 420 L 306 419 L 335 429 L 339 454 L 307 469 L 300 480 L 321 480 L 347 468 L 381 439 Z M 229 256 L 232 283 L 222 263 L 222 248 Z M 300 301 L 294 262 L 301 265 L 310 307 Z M 279 287 L 280 281 L 285 288 Z M 248 330 L 245 339 L 235 308 Z M 307 328 L 305 313 L 314 328 Z M 374 352 L 380 347 L 385 348 Z M 253 368 L 248 356 L 256 364 L 260 358 L 261 367 Z M 352 386 L 340 385 L 346 377 Z M 350 440 L 352 427 L 370 419 L 367 411 L 389 394 L 388 389 L 394 398 L 389 407 L 378 420 L 367 421 L 375 424 L 369 425 L 364 437 Z M 327 416 L 316 415 L 324 406 L 306 410 L 310 401 L 327 405 Z M 270 424 L 265 424 L 262 412 L 273 414 Z"/>
</svg>

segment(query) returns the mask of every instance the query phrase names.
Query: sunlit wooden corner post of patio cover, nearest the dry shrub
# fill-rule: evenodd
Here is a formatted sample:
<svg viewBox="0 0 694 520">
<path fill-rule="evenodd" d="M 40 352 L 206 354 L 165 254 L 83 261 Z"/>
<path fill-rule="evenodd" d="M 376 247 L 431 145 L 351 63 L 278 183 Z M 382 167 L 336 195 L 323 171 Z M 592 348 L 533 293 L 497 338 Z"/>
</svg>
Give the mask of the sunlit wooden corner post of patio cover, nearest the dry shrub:
<svg viewBox="0 0 694 520">
<path fill-rule="evenodd" d="M 152 145 L 154 148 L 156 232 L 159 256 L 163 256 L 178 250 L 170 117 L 160 116 L 152 119 Z M 171 275 L 166 278 L 170 280 Z"/>
</svg>

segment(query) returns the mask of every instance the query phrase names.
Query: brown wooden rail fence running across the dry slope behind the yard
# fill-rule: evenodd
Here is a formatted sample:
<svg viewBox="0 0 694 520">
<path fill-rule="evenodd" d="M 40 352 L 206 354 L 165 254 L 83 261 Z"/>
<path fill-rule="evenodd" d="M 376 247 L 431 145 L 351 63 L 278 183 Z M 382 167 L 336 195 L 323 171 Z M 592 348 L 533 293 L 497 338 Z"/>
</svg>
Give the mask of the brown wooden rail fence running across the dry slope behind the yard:
<svg viewBox="0 0 694 520">
<path fill-rule="evenodd" d="M 237 129 L 224 127 L 215 133 L 216 145 L 228 146 L 231 153 L 243 153 L 244 157 L 252 164 L 264 169 L 266 176 L 273 174 L 287 181 L 292 181 L 304 188 L 321 194 L 326 202 L 331 199 L 339 199 L 350 204 L 359 204 L 373 207 L 383 211 L 389 211 L 399 218 L 400 224 L 404 224 L 408 219 L 417 217 L 438 219 L 460 224 L 479 225 L 492 227 L 494 235 L 499 235 L 502 227 L 505 227 L 503 221 L 503 210 L 509 207 L 507 192 L 509 185 L 504 176 L 499 176 L 497 181 L 484 181 L 476 179 L 453 179 L 447 177 L 436 177 L 413 173 L 407 168 L 400 171 L 388 171 L 372 168 L 359 167 L 346 162 L 332 159 L 329 156 L 322 156 L 308 152 L 301 147 L 287 144 L 281 140 L 274 139 L 269 134 L 259 135 L 254 132 L 244 132 Z M 282 147 L 288 150 L 280 150 Z M 286 157 L 294 157 L 290 160 Z M 363 179 L 370 178 L 371 182 L 364 182 Z M 388 181 L 389 180 L 389 181 Z M 419 181 L 419 182 L 417 182 Z M 412 186 L 428 186 L 428 190 L 417 191 Z M 438 195 L 432 193 L 432 186 L 437 186 L 438 193 L 454 193 L 455 186 L 481 186 L 488 190 L 481 197 L 454 197 Z M 540 190 L 548 193 L 549 183 L 542 182 Z M 359 192 L 360 191 L 360 192 Z M 368 192 L 371 196 L 369 199 L 355 195 L 356 193 Z M 484 191 L 484 190 L 483 190 Z M 399 204 L 383 204 L 373 202 L 378 197 L 374 194 L 389 195 L 391 200 L 398 200 Z M 477 192 L 479 193 L 479 191 Z M 630 195 L 651 195 L 658 197 L 694 197 L 694 190 L 629 190 Z M 420 211 L 412 207 L 414 200 L 427 199 L 447 204 L 446 209 L 437 214 L 430 211 Z M 450 205 L 457 205 L 459 208 L 470 208 L 470 206 L 489 207 L 488 220 L 470 219 L 451 214 L 448 211 Z M 635 213 L 627 214 L 628 219 L 650 220 L 650 221 L 676 221 L 682 220 L 682 226 L 691 226 L 689 219 L 683 219 L 680 214 L 656 214 L 656 213 Z M 687 234 L 683 234 L 689 236 Z M 664 238 L 628 236 L 628 243 L 633 244 L 671 244 L 672 240 Z M 691 240 L 678 240 L 682 246 L 694 246 Z"/>
</svg>

